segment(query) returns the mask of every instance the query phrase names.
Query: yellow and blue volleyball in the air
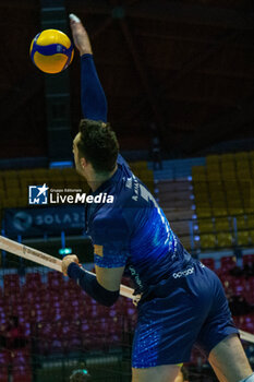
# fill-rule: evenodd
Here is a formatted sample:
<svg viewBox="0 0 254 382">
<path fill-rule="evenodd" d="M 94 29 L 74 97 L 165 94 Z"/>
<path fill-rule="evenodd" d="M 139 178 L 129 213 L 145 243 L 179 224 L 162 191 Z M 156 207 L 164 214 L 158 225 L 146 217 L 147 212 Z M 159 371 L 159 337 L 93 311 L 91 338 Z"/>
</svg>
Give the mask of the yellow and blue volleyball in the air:
<svg viewBox="0 0 254 382">
<path fill-rule="evenodd" d="M 45 73 L 59 73 L 73 60 L 74 48 L 70 38 L 61 31 L 46 29 L 38 33 L 31 44 L 31 58 Z"/>
</svg>

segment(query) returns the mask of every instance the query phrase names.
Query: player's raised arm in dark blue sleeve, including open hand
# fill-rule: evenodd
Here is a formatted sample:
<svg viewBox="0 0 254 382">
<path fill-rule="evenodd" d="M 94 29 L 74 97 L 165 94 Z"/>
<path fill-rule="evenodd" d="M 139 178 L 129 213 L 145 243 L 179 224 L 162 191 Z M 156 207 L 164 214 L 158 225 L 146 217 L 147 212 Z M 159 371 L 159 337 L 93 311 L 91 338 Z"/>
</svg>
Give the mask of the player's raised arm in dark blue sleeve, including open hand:
<svg viewBox="0 0 254 382">
<path fill-rule="evenodd" d="M 81 104 L 83 116 L 95 121 L 107 121 L 107 99 L 100 84 L 88 34 L 82 22 L 73 13 L 70 14 L 75 47 L 81 55 Z"/>
</svg>

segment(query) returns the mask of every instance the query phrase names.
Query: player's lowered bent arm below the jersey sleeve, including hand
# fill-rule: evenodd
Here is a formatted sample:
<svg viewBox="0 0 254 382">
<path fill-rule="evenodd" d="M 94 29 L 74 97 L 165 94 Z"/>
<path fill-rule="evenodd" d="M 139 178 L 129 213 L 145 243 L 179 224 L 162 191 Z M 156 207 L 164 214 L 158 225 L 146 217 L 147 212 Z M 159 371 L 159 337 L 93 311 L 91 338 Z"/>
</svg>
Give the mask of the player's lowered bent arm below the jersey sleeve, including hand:
<svg viewBox="0 0 254 382">
<path fill-rule="evenodd" d="M 83 290 L 99 303 L 111 307 L 119 297 L 124 266 L 105 268 L 96 265 L 96 275 L 90 275 L 78 264 L 76 255 L 62 260 L 62 272 L 74 279 Z"/>
</svg>

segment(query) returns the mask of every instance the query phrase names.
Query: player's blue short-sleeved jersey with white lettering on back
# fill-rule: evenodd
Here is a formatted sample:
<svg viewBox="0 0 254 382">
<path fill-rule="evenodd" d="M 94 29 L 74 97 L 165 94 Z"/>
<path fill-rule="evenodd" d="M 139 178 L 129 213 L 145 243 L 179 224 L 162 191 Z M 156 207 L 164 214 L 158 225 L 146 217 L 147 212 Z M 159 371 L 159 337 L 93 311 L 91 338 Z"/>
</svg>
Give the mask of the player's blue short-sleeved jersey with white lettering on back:
<svg viewBox="0 0 254 382">
<path fill-rule="evenodd" d="M 119 156 L 114 175 L 93 195 L 113 196 L 112 203 L 87 208 L 87 234 L 95 264 L 125 266 L 138 291 L 145 291 L 190 260 L 154 196 Z"/>
</svg>

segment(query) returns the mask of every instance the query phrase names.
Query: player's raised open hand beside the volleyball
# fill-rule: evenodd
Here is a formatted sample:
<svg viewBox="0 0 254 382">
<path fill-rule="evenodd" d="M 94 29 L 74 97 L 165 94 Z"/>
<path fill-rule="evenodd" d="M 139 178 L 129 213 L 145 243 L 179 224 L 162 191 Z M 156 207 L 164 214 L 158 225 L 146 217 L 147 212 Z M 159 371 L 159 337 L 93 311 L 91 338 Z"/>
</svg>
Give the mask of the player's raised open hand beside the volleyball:
<svg viewBox="0 0 254 382">
<path fill-rule="evenodd" d="M 82 22 L 73 13 L 71 13 L 69 17 L 70 17 L 70 25 L 72 29 L 73 40 L 74 40 L 75 47 L 80 50 L 81 56 L 85 53 L 93 55 L 89 37 Z"/>
</svg>

